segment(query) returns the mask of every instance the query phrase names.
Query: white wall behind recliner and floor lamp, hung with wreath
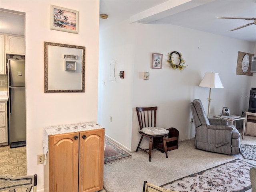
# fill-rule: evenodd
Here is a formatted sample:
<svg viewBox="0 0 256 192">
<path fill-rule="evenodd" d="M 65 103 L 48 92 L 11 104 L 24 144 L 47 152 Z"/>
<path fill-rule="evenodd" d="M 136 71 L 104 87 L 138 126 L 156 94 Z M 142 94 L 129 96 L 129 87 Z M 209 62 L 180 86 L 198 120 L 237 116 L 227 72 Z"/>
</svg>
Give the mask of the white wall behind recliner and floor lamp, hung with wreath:
<svg viewBox="0 0 256 192">
<path fill-rule="evenodd" d="M 107 135 L 134 151 L 139 141 L 135 108 L 158 106 L 157 126 L 175 127 L 180 140 L 192 138 L 189 104 L 199 98 L 207 112 L 209 89 L 198 87 L 206 72 L 218 72 L 224 86 L 212 89 L 210 116 L 220 114 L 223 106 L 241 115 L 248 109 L 249 100 L 242 95 L 249 94 L 252 76 L 236 75 L 238 51 L 254 53 L 254 45 L 174 25 L 125 21 L 104 29 L 100 31 L 98 122 Z M 169 67 L 168 53 L 172 51 L 182 53 L 188 65 L 183 71 Z M 162 69 L 151 69 L 152 53 L 163 54 Z M 125 73 L 116 82 L 108 80 L 112 58 L 117 74 Z M 150 73 L 149 80 L 142 79 L 144 71 Z M 101 83 L 104 79 L 106 85 Z"/>
</svg>

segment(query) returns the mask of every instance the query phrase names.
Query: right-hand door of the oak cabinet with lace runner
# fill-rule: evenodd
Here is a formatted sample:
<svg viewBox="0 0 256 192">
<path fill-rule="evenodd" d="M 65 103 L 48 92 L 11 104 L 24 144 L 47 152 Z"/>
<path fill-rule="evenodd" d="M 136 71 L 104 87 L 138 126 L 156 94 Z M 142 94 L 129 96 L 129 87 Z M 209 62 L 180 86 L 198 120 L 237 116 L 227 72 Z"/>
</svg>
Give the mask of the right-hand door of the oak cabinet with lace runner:
<svg viewBox="0 0 256 192">
<path fill-rule="evenodd" d="M 83 135 L 86 138 L 82 138 Z M 103 189 L 104 129 L 80 132 L 79 192 Z"/>
</svg>

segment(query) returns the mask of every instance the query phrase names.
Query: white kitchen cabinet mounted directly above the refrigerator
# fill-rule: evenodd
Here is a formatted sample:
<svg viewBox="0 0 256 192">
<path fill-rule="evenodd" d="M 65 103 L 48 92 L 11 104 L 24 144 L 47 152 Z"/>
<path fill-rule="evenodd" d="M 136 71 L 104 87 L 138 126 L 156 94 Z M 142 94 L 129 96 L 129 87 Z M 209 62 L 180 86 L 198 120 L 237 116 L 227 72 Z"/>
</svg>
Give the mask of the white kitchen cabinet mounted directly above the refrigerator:
<svg viewBox="0 0 256 192">
<path fill-rule="evenodd" d="M 6 54 L 25 55 L 25 39 L 21 35 L 5 36 Z"/>
</svg>

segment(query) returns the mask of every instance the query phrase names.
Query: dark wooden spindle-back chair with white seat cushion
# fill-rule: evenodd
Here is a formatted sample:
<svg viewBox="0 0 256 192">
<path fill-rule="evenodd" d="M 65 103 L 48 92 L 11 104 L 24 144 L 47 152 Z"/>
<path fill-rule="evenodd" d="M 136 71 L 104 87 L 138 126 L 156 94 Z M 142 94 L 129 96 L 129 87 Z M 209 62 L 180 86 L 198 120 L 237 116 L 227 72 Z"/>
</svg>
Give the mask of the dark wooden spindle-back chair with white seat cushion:
<svg viewBox="0 0 256 192">
<path fill-rule="evenodd" d="M 138 144 L 136 152 L 138 151 L 138 149 L 141 149 L 142 151 L 148 153 L 149 161 L 151 161 L 152 149 L 158 149 L 157 146 L 152 145 L 152 141 L 156 137 L 162 137 L 163 140 L 161 142 L 163 142 L 164 152 L 166 154 L 166 158 L 168 158 L 165 137 L 168 136 L 169 131 L 164 128 L 156 127 L 156 110 L 157 110 L 157 107 L 137 107 L 136 108 L 138 121 L 140 125 L 139 133 L 141 134 L 140 142 Z M 140 148 L 140 143 L 144 136 L 149 138 L 149 149 Z"/>
</svg>

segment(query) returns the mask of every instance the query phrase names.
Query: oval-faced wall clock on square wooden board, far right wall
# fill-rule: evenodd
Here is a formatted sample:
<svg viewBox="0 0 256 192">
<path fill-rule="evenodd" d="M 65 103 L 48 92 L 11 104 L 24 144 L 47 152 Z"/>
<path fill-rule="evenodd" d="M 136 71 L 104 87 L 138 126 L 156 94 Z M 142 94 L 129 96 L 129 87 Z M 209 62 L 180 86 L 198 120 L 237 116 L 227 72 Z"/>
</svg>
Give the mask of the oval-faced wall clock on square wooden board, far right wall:
<svg viewBox="0 0 256 192">
<path fill-rule="evenodd" d="M 236 74 L 243 74 L 243 75 L 250 75 L 250 76 L 252 75 L 252 72 L 251 72 L 252 57 L 254 57 L 254 54 L 238 51 Z"/>
</svg>

